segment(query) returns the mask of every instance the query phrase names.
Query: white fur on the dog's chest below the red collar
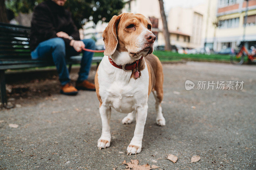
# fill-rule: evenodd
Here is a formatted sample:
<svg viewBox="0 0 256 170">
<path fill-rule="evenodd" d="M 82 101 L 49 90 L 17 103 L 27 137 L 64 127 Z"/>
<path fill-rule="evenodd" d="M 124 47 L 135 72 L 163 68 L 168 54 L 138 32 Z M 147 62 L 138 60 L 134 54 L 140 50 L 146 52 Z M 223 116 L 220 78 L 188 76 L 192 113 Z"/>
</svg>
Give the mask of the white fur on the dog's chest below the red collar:
<svg viewBox="0 0 256 170">
<path fill-rule="evenodd" d="M 143 60 L 145 62 L 145 60 Z M 149 75 L 147 64 L 141 70 L 141 76 L 131 78 L 132 70 L 124 71 L 110 64 L 104 56 L 99 69 L 99 94 L 102 104 L 116 111 L 130 113 L 148 102 Z"/>
</svg>

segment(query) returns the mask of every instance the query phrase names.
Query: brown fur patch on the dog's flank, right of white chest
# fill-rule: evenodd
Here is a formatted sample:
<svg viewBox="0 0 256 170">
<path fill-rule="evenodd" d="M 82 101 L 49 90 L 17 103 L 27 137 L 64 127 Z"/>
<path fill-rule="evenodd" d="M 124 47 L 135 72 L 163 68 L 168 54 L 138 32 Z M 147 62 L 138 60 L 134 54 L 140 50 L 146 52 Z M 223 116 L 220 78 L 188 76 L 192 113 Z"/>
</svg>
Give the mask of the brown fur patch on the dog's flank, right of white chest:
<svg viewBox="0 0 256 170">
<path fill-rule="evenodd" d="M 157 98 L 159 100 L 159 103 L 161 103 L 164 96 L 164 91 L 163 91 L 164 73 L 163 73 L 162 63 L 158 59 L 158 57 L 156 57 L 154 54 L 149 54 L 146 57 L 146 62 L 147 62 L 148 74 L 149 74 L 148 91 L 150 90 L 148 95 L 152 90 L 156 90 Z M 151 81 L 150 81 L 150 78 L 151 78 Z"/>
</svg>

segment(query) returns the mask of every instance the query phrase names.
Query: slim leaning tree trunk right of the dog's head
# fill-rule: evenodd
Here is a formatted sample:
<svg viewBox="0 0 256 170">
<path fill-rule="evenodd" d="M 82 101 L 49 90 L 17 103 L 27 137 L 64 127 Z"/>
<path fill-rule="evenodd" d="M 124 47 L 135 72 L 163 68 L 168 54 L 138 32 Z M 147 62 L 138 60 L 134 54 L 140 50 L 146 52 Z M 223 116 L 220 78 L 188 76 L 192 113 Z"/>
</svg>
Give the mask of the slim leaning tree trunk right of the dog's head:
<svg viewBox="0 0 256 170">
<path fill-rule="evenodd" d="M 161 18 L 162 18 L 162 22 L 163 22 L 163 32 L 164 32 L 164 40 L 165 40 L 165 51 L 171 51 L 172 47 L 171 47 L 171 43 L 170 43 L 170 33 L 168 30 L 168 26 L 167 26 L 167 21 L 166 21 L 166 16 L 164 13 L 164 2 L 163 0 L 159 0 L 159 5 L 160 5 L 160 13 L 161 13 Z"/>
</svg>

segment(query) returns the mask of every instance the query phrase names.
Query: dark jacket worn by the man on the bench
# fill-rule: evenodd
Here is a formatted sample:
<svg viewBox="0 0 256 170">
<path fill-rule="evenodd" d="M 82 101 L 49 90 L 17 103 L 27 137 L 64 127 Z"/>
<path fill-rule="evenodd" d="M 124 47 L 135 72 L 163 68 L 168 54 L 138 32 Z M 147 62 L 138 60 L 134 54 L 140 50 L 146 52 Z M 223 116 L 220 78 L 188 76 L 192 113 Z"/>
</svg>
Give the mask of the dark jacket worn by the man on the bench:
<svg viewBox="0 0 256 170">
<path fill-rule="evenodd" d="M 80 40 L 71 12 L 52 0 L 37 5 L 31 21 L 30 49 L 33 51 L 40 42 L 57 37 L 56 33 L 60 31 Z M 70 39 L 62 39 L 68 47 Z"/>
</svg>

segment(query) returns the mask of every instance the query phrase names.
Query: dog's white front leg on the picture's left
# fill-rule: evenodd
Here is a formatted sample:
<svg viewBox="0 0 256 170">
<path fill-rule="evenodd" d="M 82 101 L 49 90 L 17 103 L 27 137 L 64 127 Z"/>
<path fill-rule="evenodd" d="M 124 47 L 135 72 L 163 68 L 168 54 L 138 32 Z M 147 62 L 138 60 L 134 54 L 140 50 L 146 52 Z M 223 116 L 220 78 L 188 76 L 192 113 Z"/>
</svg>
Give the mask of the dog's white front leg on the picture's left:
<svg viewBox="0 0 256 170">
<path fill-rule="evenodd" d="M 100 117 L 102 122 L 102 132 L 98 140 L 98 148 L 106 148 L 110 146 L 111 134 L 110 134 L 110 116 L 111 108 L 101 105 L 100 106 Z"/>
</svg>

